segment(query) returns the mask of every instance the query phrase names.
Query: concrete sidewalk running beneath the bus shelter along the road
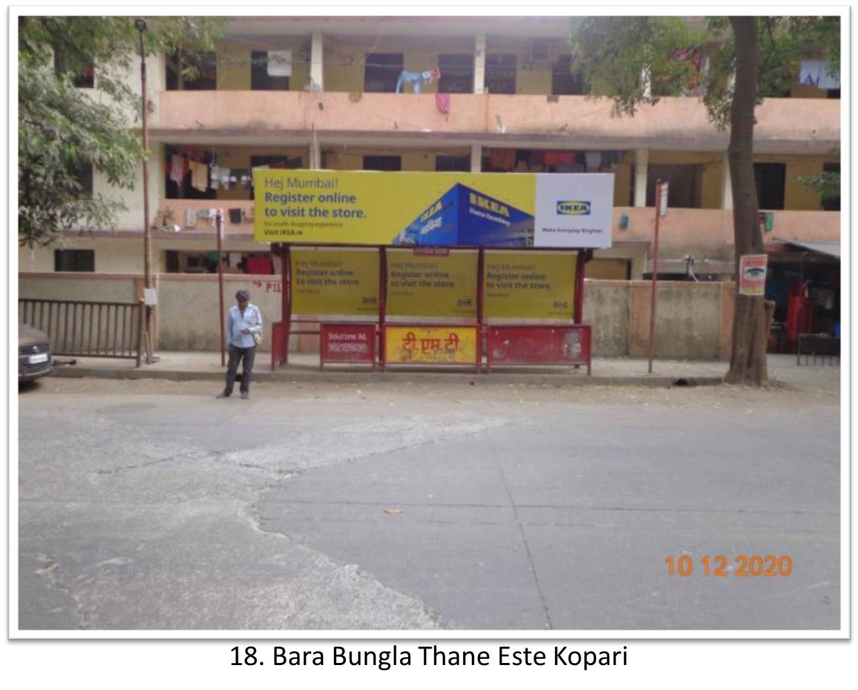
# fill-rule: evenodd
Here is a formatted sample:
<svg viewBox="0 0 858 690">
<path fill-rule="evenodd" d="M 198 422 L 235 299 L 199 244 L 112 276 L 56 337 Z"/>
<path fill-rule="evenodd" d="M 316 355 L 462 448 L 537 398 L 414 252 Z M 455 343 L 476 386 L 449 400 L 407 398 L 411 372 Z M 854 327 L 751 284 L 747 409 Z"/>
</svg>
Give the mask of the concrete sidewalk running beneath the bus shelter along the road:
<svg viewBox="0 0 858 690">
<path fill-rule="evenodd" d="M 96 357 L 57 357 L 56 376 L 118 379 L 170 379 L 173 381 L 221 381 L 225 368 L 221 367 L 219 352 L 161 351 L 158 361 L 136 368 L 133 360 L 102 359 Z M 69 363 L 74 359 L 75 363 Z M 318 355 L 291 353 L 289 363 L 271 370 L 269 352 L 257 356 L 253 376 L 256 381 L 333 381 L 351 383 L 361 381 L 475 381 L 480 383 L 595 385 L 595 386 L 674 386 L 716 385 L 722 382 L 728 369 L 726 362 L 690 362 L 657 360 L 653 374 L 647 374 L 645 359 L 594 359 L 592 375 L 587 369 L 571 367 L 498 367 L 491 374 L 476 374 L 473 370 L 438 367 L 389 367 L 386 371 L 372 371 L 367 367 L 328 365 L 318 367 Z M 837 386 L 840 367 L 818 363 L 815 366 L 797 366 L 795 356 L 770 355 L 769 374 L 772 381 L 790 386 Z"/>
</svg>

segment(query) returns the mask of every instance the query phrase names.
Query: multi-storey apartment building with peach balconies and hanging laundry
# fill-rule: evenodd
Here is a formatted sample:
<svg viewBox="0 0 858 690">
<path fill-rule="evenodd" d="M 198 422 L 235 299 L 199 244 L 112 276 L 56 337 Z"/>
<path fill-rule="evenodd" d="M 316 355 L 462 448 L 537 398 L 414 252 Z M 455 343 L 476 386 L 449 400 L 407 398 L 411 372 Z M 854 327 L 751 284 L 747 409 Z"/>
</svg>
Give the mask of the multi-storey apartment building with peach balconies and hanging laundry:
<svg viewBox="0 0 858 690">
<path fill-rule="evenodd" d="M 611 117 L 569 70 L 559 17 L 235 17 L 200 76 L 148 61 L 149 211 L 159 273 L 216 266 L 211 209 L 227 213 L 227 272 L 277 271 L 253 240 L 251 170 L 613 172 L 613 246 L 587 276 L 639 279 L 652 265 L 654 192 L 670 183 L 660 273 L 730 279 L 728 133 L 696 96 Z M 695 59 L 706 69 L 707 49 Z M 94 80 L 98 65 L 94 66 Z M 139 75 L 130 75 L 139 91 Z M 93 81 L 82 81 L 81 87 Z M 797 178 L 839 169 L 839 84 L 808 54 L 795 85 L 758 107 L 755 171 L 773 256 L 839 239 L 837 201 Z M 97 175 L 95 192 L 118 195 Z M 115 229 L 21 249 L 22 273 L 142 272 L 142 185 Z"/>
</svg>

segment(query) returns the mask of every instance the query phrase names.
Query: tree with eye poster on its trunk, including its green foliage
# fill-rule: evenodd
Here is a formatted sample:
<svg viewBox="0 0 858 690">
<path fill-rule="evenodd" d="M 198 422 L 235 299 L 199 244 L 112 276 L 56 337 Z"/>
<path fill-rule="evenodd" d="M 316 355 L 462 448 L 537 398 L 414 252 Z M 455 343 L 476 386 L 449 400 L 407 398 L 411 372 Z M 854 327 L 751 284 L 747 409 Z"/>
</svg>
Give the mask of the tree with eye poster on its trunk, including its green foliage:
<svg viewBox="0 0 858 690">
<path fill-rule="evenodd" d="M 588 17 L 573 20 L 573 69 L 592 97 L 613 98 L 615 116 L 633 116 L 663 96 L 700 93 L 710 119 L 729 128 L 735 271 L 741 255 L 764 254 L 753 177 L 755 107 L 789 88 L 803 51 L 821 48 L 839 69 L 839 17 L 717 17 L 692 27 L 680 17 Z M 710 49 L 709 69 L 697 59 Z M 728 383 L 764 386 L 764 297 L 736 296 Z"/>
</svg>

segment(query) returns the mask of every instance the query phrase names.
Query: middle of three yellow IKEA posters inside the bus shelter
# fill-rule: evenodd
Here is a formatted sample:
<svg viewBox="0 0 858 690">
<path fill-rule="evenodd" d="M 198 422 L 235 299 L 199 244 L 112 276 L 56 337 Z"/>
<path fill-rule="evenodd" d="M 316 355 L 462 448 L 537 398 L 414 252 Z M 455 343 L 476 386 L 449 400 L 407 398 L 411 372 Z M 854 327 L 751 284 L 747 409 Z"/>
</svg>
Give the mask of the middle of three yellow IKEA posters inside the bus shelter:
<svg viewBox="0 0 858 690">
<path fill-rule="evenodd" d="M 387 315 L 475 319 L 478 261 L 473 250 L 420 255 L 414 249 L 389 249 Z"/>
</svg>

